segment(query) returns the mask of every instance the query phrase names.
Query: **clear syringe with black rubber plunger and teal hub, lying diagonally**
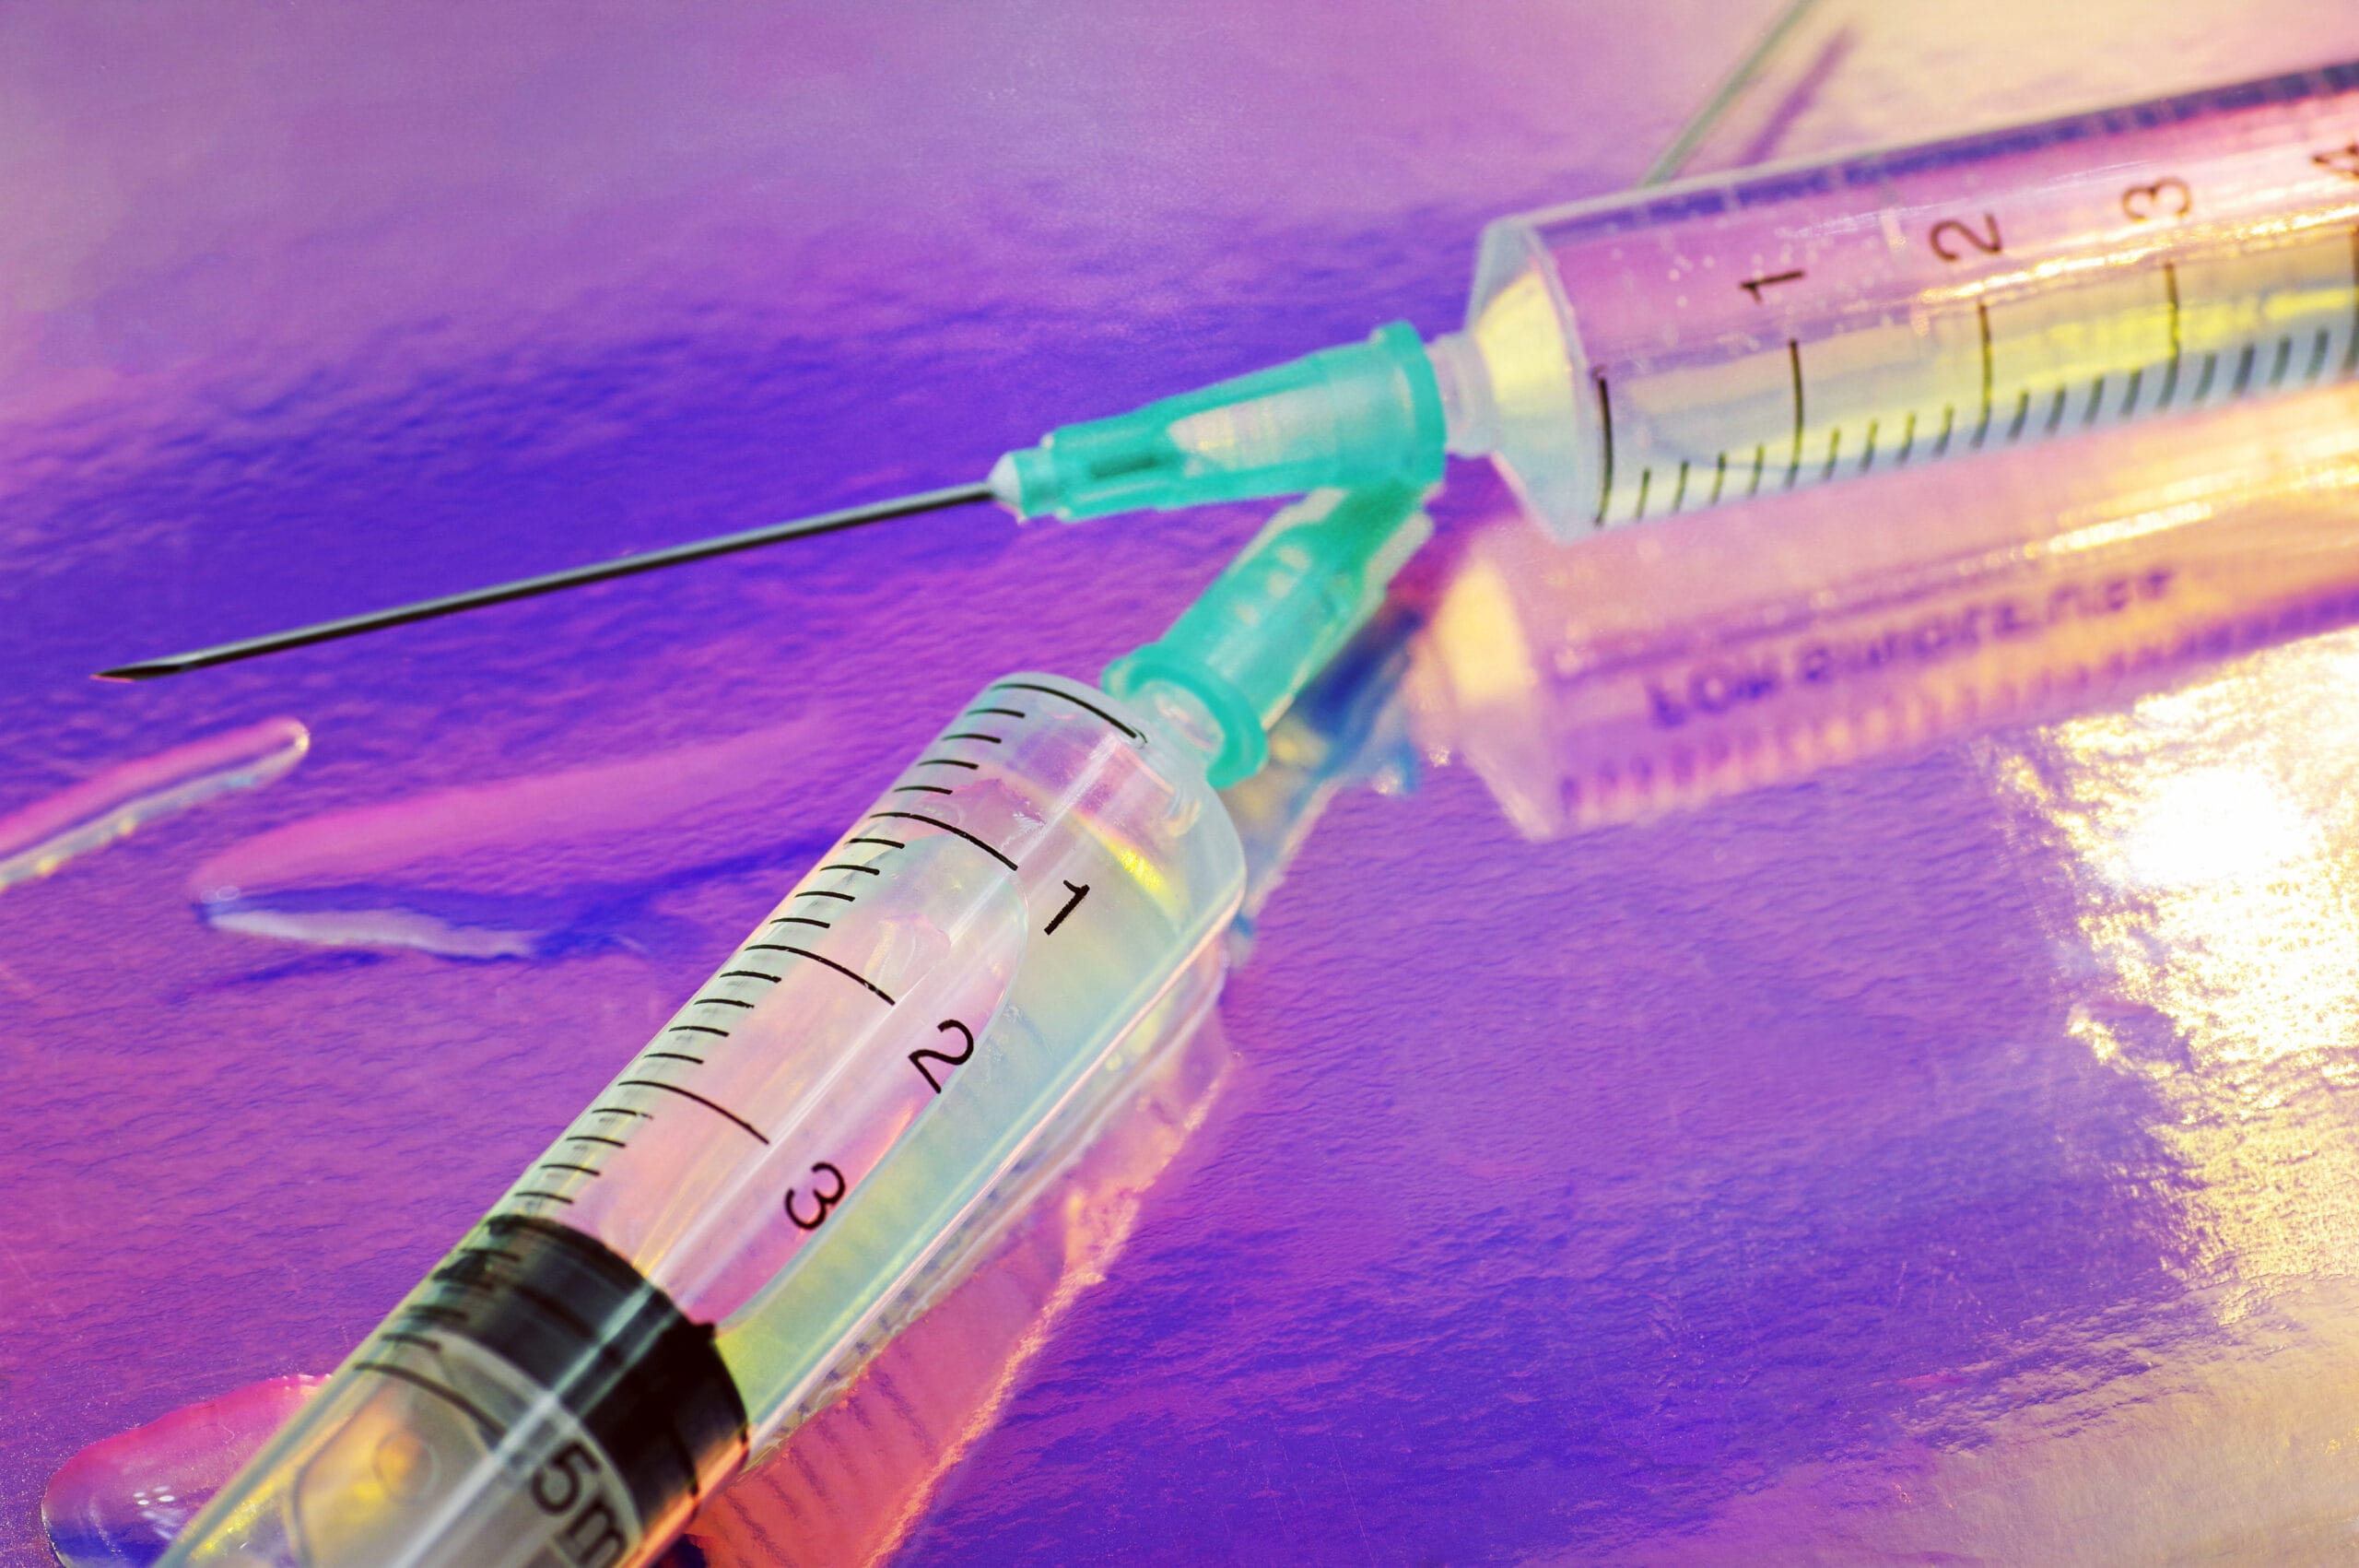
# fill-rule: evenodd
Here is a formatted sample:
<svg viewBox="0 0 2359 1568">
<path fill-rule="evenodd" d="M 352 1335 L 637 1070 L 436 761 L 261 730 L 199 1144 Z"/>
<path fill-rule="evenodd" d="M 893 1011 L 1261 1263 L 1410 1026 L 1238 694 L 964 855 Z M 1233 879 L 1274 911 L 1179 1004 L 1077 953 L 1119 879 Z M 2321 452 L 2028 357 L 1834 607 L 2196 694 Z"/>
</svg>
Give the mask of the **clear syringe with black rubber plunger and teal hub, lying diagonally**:
<svg viewBox="0 0 2359 1568">
<path fill-rule="evenodd" d="M 1425 541 L 1281 512 L 1161 640 L 998 680 L 672 1015 L 165 1568 L 630 1568 L 823 1405 L 1043 1126 L 1220 989 L 1217 786 Z"/>
</svg>

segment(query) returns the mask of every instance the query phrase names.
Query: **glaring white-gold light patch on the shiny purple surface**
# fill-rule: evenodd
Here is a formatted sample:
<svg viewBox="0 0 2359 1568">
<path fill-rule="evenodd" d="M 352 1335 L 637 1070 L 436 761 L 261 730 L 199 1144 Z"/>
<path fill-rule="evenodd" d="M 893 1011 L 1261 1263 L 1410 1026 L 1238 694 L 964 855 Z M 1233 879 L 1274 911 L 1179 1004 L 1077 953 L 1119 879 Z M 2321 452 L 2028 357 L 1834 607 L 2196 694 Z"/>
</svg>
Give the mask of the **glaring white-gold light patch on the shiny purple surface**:
<svg viewBox="0 0 2359 1568">
<path fill-rule="evenodd" d="M 2359 1268 L 2354 664 L 2350 633 L 2293 645 L 2000 765 L 2064 850 L 2074 1034 L 2151 1091 L 2229 1315 Z"/>
</svg>

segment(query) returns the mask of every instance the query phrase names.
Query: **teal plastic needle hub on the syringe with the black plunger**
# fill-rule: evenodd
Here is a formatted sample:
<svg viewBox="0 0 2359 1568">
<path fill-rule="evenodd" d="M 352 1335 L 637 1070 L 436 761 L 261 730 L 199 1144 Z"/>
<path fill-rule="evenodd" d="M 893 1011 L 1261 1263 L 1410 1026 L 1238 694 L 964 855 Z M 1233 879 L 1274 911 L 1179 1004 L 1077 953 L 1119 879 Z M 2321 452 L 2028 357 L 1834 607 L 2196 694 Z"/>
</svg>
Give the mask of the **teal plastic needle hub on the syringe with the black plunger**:
<svg viewBox="0 0 2359 1568">
<path fill-rule="evenodd" d="M 1102 687 L 1149 697 L 1177 687 L 1220 730 L 1215 789 L 1269 756 L 1269 725 L 1352 640 L 1434 524 L 1422 489 L 1316 491 L 1269 520 L 1161 640 L 1106 666 Z"/>
</svg>

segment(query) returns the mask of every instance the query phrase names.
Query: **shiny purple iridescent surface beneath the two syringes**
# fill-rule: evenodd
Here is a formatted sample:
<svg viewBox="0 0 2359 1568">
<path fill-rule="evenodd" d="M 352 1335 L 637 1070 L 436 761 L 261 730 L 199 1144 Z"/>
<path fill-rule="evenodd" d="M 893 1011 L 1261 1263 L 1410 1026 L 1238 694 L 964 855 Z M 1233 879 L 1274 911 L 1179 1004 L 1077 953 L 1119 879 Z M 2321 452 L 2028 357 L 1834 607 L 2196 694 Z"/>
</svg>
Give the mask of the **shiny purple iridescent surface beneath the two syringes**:
<svg viewBox="0 0 2359 1568">
<path fill-rule="evenodd" d="M 333 1365 L 979 678 L 1099 668 L 1260 512 L 951 515 L 151 687 L 87 671 L 962 479 L 1062 418 L 1448 326 L 1479 220 L 1632 177 L 1765 9 L 0 21 L 0 812 L 281 713 L 314 734 L 285 779 L 0 893 L 0 1563 L 42 1561 L 78 1448 Z M 2057 12 L 1878 7 L 1788 146 L 2359 54 L 2324 0 Z M 2227 711 L 2333 708 L 2333 666 L 2272 668 Z M 717 791 L 703 760 L 750 734 L 727 756 L 767 779 Z M 1540 848 L 1456 772 L 1342 801 L 1231 987 L 1210 1119 L 906 1561 L 2066 1561 L 2123 1500 L 2210 1507 L 2173 1455 L 2217 1485 L 2324 1452 L 2298 1393 L 2347 1384 L 2352 1341 L 2359 1013 L 2328 959 L 2359 836 L 2293 831 L 2326 864 L 2300 876 L 2255 852 L 2239 959 L 2090 869 L 2081 824 L 2144 798 L 2102 739 Z M 2166 741 L 2156 777 L 2260 767 L 2253 734 Z M 2302 758 L 2286 789 L 2333 798 L 2345 751 Z M 599 767 L 627 791 L 559 831 Z M 484 793 L 439 860 L 302 864 L 559 933 L 535 956 L 191 902 L 267 829 L 429 831 L 448 791 Z M 2324 959 L 2288 971 L 2300 940 Z M 2156 971 L 2196 992 L 2137 968 L 2173 945 L 2220 959 Z M 2158 1074 L 2215 1060 L 2206 1027 L 2293 1044 L 2187 1100 Z M 2206 1377 L 2258 1415 L 2168 1403 Z M 2194 1410 L 2177 1448 L 2074 1448 L 2109 1389 Z M 2317 1474 L 2279 1516 L 2335 1516 Z M 2144 1559 L 2199 1540 L 2161 1514 Z"/>
</svg>

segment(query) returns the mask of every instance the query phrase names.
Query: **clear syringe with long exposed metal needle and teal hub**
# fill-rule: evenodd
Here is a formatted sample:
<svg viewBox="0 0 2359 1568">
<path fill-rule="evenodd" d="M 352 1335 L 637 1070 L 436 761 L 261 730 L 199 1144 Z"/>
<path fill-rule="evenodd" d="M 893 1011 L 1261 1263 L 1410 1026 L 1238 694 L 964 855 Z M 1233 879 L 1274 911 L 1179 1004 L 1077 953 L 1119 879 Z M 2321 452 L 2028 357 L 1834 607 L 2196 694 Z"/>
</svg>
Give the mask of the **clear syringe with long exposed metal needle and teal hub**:
<svg viewBox="0 0 2359 1568">
<path fill-rule="evenodd" d="M 1099 517 L 1441 479 L 1555 538 L 2359 373 L 2359 64 L 1493 222 L 1465 331 L 1064 425 L 981 484 L 106 671 L 250 659 L 1000 501 Z"/>
</svg>

